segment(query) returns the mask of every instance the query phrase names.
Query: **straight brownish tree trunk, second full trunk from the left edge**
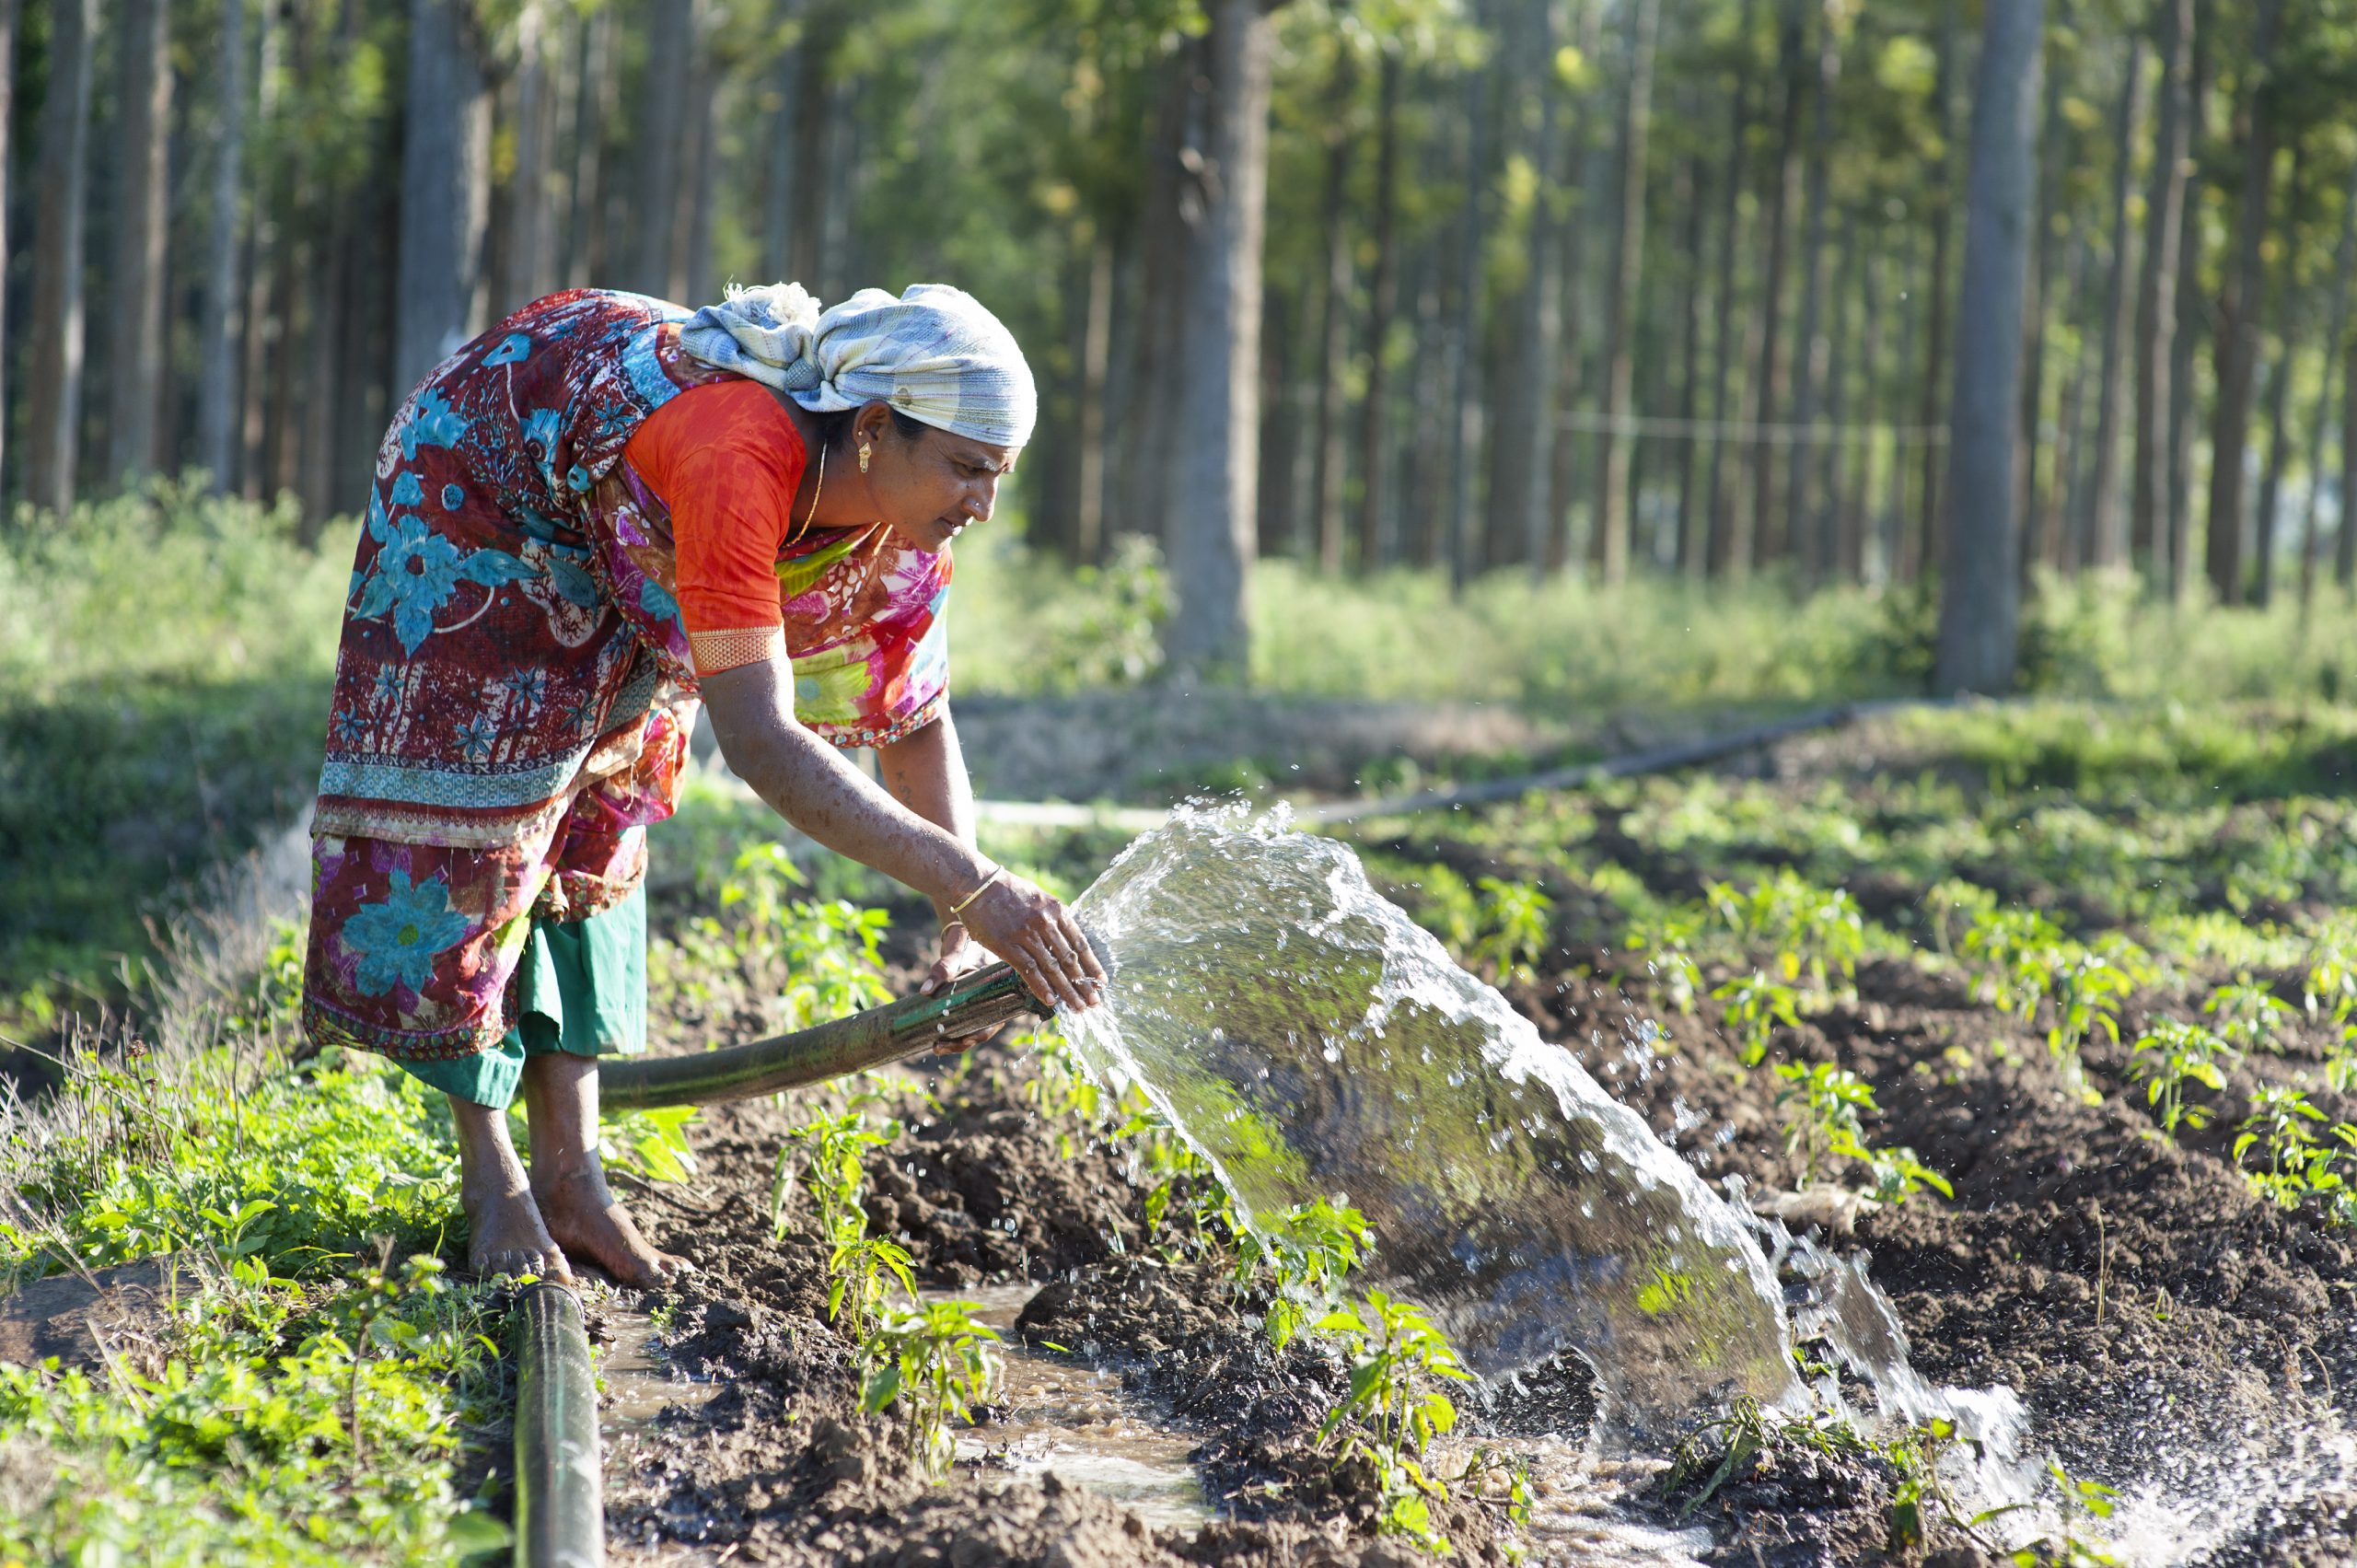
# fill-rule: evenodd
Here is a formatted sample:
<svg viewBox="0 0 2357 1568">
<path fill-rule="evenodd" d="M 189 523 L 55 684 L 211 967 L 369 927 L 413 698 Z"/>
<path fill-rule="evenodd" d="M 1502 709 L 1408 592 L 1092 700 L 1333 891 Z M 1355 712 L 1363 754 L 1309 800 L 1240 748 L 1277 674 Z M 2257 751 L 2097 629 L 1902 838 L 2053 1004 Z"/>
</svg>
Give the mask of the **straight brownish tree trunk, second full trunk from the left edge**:
<svg viewBox="0 0 2357 1568">
<path fill-rule="evenodd" d="M 113 283 L 108 288 L 106 479 L 137 483 L 156 467 L 163 408 L 165 203 L 172 146 L 170 0 L 123 0 L 115 35 Z"/>
</svg>

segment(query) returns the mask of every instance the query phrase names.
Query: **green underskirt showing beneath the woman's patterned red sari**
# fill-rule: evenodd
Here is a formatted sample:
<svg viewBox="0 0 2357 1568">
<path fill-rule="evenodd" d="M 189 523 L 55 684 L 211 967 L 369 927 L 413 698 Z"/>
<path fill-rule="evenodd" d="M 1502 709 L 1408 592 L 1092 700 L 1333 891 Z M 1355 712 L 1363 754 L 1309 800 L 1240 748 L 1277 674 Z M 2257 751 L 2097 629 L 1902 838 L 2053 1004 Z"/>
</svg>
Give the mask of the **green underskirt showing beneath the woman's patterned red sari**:
<svg viewBox="0 0 2357 1568">
<path fill-rule="evenodd" d="M 476 1056 L 403 1061 L 443 1094 L 504 1111 L 526 1056 L 646 1049 L 646 889 L 587 920 L 535 920 L 516 964 L 516 1028 Z"/>
</svg>

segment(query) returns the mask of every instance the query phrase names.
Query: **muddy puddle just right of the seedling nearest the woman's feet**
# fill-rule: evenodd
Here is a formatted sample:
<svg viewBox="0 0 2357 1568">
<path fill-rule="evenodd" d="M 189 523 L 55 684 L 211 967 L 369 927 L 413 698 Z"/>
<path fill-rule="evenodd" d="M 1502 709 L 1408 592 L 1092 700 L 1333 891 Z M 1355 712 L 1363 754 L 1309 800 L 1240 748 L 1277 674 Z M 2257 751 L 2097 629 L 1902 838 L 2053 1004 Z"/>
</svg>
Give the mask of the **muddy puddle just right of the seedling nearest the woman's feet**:
<svg viewBox="0 0 2357 1568">
<path fill-rule="evenodd" d="M 976 1318 L 1009 1339 L 992 1405 L 997 1419 L 957 1438 L 962 1462 L 981 1462 L 1037 1481 L 1054 1471 L 1065 1485 L 1117 1502 L 1155 1530 L 1193 1535 L 1211 1518 L 1211 1500 L 1188 1462 L 1197 1438 L 1164 1424 L 1150 1401 L 1105 1372 L 1014 1344 L 1014 1323 L 1037 1285 L 926 1290 L 926 1302 L 978 1302 Z"/>
</svg>

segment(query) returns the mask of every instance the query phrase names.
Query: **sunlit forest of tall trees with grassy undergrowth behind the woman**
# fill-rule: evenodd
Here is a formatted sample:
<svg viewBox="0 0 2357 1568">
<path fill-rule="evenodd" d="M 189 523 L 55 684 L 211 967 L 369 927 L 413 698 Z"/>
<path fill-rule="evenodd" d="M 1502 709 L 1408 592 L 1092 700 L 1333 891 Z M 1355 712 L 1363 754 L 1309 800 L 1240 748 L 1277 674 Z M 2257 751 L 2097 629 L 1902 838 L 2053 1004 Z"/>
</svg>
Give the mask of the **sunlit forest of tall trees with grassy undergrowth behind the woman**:
<svg viewBox="0 0 2357 1568">
<path fill-rule="evenodd" d="M 0 1021 L 299 809 L 398 398 L 563 285 L 1006 318 L 962 696 L 2357 681 L 2357 0 L 0 0 Z"/>
</svg>

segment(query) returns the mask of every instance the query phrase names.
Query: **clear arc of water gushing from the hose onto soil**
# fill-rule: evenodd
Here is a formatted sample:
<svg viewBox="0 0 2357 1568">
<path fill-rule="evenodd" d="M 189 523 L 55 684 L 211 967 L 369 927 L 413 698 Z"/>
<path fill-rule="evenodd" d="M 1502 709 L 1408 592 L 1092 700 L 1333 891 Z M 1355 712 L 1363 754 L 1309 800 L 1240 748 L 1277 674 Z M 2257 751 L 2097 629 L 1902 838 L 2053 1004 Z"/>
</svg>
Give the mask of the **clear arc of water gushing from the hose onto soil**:
<svg viewBox="0 0 2357 1568">
<path fill-rule="evenodd" d="M 1113 976 L 1105 1007 L 1063 1019 L 1082 1061 L 1143 1087 L 1247 1224 L 1341 1193 L 1376 1228 L 1374 1283 L 1424 1304 L 1475 1370 L 1574 1351 L 1629 1431 L 1732 1394 L 1801 1410 L 1782 1269 L 1801 1327 L 1886 1412 L 2008 1436 L 2011 1396 L 1975 1405 L 1916 1377 L 1860 1269 L 1711 1193 L 1282 806 L 1176 811 L 1075 913 Z"/>
</svg>

